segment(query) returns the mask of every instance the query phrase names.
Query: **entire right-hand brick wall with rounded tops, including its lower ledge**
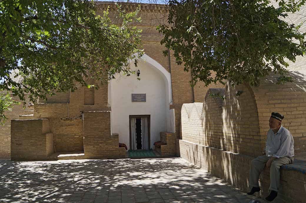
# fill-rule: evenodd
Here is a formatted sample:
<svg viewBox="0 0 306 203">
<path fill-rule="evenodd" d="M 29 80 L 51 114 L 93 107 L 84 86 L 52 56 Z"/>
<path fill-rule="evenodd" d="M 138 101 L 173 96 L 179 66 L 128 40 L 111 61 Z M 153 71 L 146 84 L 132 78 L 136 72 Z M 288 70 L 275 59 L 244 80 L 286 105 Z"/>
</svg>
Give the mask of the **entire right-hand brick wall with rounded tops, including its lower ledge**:
<svg viewBox="0 0 306 203">
<path fill-rule="evenodd" d="M 282 125 L 294 137 L 295 155 L 305 152 L 306 78 L 299 72 L 289 74 L 295 79 L 293 83 L 277 85 L 278 76 L 271 74 L 259 87 L 228 84 L 224 100 L 206 96 L 203 103 L 184 104 L 181 157 L 247 191 L 250 161 L 265 146 L 268 120 L 274 111 L 285 116 Z M 207 95 L 217 91 L 210 89 Z M 243 93 L 237 97 L 237 91 Z M 299 170 L 282 169 L 278 202 L 303 202 L 304 176 Z M 263 196 L 267 196 L 268 170 L 260 181 Z"/>
</svg>

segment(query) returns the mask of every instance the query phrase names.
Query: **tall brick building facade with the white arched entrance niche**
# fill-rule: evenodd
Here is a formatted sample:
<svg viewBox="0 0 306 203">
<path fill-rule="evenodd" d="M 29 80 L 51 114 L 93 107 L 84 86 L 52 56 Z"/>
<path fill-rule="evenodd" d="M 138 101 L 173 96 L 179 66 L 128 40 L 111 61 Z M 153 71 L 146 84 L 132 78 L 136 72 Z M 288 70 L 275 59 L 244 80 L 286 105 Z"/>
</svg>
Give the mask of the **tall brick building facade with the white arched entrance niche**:
<svg viewBox="0 0 306 203">
<path fill-rule="evenodd" d="M 116 12 L 114 12 L 116 6 L 113 2 L 98 2 L 98 14 L 105 11 L 108 6 L 110 6 L 110 17 L 116 23 Z M 135 5 L 126 4 L 125 9 L 133 10 L 135 9 Z M 181 106 L 184 103 L 203 101 L 209 87 L 204 87 L 201 83 L 198 83 L 195 87 L 191 87 L 188 83 L 191 79 L 190 73 L 184 72 L 184 67 L 175 63 L 175 58 L 171 54 L 172 51 L 170 51 L 169 57 L 162 55 L 162 50 L 166 48 L 160 45 L 162 35 L 158 33 L 156 26 L 164 23 L 167 12 L 168 8 L 164 5 L 141 4 L 140 17 L 142 21 L 136 24 L 139 29 L 143 30 L 142 43 L 145 51 L 145 62 L 140 61 L 137 67 L 141 72 L 140 82 L 134 76 L 130 76 L 129 78 L 121 78 L 119 76 L 120 80 L 112 80 L 108 85 L 100 87 L 99 90 L 80 87 L 75 92 L 58 93 L 48 98 L 47 101 L 39 101 L 31 109 L 26 109 L 26 114 L 29 114 L 29 116 L 24 115 L 25 113 L 21 106 L 15 106 L 12 112 L 6 113 L 9 120 L 16 120 L 12 121 L 12 124 L 14 124 L 12 127 L 15 129 L 11 129 L 10 121 L 7 121 L 5 126 L 0 127 L 0 157 L 10 158 L 11 150 L 20 149 L 21 146 L 26 146 L 27 144 L 25 143 L 27 142 L 33 142 L 31 148 L 35 148 L 35 140 L 37 139 L 33 137 L 32 140 L 29 140 L 29 137 L 26 136 L 26 133 L 31 134 L 33 129 L 36 128 L 36 123 L 29 119 L 47 119 L 47 121 L 40 122 L 42 127 L 48 125 L 47 129 L 49 129 L 42 136 L 50 136 L 50 133 L 52 133 L 53 142 L 49 142 L 49 145 L 52 144 L 56 152 L 84 151 L 85 157 L 87 155 L 88 157 L 102 158 L 123 157 L 124 153 L 122 153 L 122 150 L 115 143 L 123 142 L 128 148 L 130 147 L 128 114 L 145 114 L 151 116 L 150 148 L 154 148 L 153 143 L 161 139 L 159 136 L 160 132 L 175 133 L 176 138 L 179 138 L 181 134 Z M 154 93 L 154 95 L 150 94 L 150 92 L 159 91 L 157 89 L 158 84 L 153 84 L 153 76 L 156 76 L 155 80 L 157 83 L 162 83 L 163 85 L 160 86 L 160 91 L 163 91 L 161 95 L 157 95 L 157 93 Z M 91 81 L 91 83 L 94 83 L 94 81 Z M 151 87 L 150 84 L 152 84 Z M 148 85 L 148 90 L 140 88 L 146 85 Z M 152 88 L 152 86 L 154 87 Z M 124 89 L 125 87 L 131 88 Z M 219 86 L 213 85 L 211 87 Z M 124 96 L 122 92 L 127 94 Z M 132 103 L 130 101 L 130 95 L 133 93 L 146 93 L 147 101 L 145 103 Z M 129 101 L 125 101 L 126 98 Z M 122 102 L 120 103 L 120 101 Z M 153 106 L 154 103 L 158 103 L 157 101 L 162 104 L 159 105 L 162 107 Z M 118 110 L 116 111 L 116 109 L 127 105 L 127 103 L 132 105 L 132 107 L 122 109 L 120 112 Z M 130 108 L 134 109 L 135 113 L 127 112 L 127 109 Z M 140 109 L 147 109 L 147 111 Z M 90 116 L 86 117 L 86 115 Z M 92 120 L 95 117 L 94 115 L 96 115 L 96 120 Z M 20 120 L 18 121 L 18 119 Z M 88 124 L 87 119 L 92 120 L 93 124 Z M 101 119 L 103 123 L 100 122 Z M 121 121 L 120 119 L 123 120 Z M 106 126 L 102 129 L 101 125 L 95 126 L 95 122 L 100 122 L 101 125 Z M 25 126 L 27 126 L 26 129 L 24 129 Z M 126 129 L 125 131 L 118 129 L 124 127 Z M 21 129 L 22 134 L 16 132 L 18 129 Z M 94 136 L 89 136 L 89 134 L 93 133 L 91 129 L 96 129 L 101 132 L 99 135 L 95 135 L 96 137 L 102 136 L 112 140 L 110 143 L 99 143 L 99 146 L 108 149 L 107 152 L 94 149 L 95 147 L 92 146 L 94 144 L 89 139 L 89 137 Z M 14 132 L 12 136 L 17 137 L 11 139 L 11 132 Z M 116 136 L 112 137 L 111 135 L 113 134 L 118 134 L 117 138 Z M 44 138 L 43 140 L 47 139 Z M 92 139 L 92 142 L 94 140 Z M 89 147 L 90 149 L 87 146 L 91 146 Z M 51 148 L 51 146 L 48 147 Z M 164 148 L 166 149 L 166 147 Z M 172 144 L 172 148 L 176 148 L 175 144 Z M 175 151 L 173 149 L 171 150 Z M 120 152 L 117 153 L 118 151 Z M 88 154 L 86 155 L 87 152 Z M 12 159 L 22 159 L 22 156 L 28 159 L 26 153 L 18 156 L 13 156 L 13 154 Z M 47 159 L 50 154 L 44 153 L 43 156 Z M 35 156 L 32 159 L 35 159 Z"/>
</svg>

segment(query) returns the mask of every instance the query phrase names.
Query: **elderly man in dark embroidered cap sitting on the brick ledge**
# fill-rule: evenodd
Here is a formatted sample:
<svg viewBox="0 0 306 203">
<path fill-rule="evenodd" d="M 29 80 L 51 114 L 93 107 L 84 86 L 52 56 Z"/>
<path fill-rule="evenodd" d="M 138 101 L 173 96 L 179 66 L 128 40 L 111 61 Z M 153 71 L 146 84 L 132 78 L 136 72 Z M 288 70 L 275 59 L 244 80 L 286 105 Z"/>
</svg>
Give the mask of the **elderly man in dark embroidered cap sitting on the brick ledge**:
<svg viewBox="0 0 306 203">
<path fill-rule="evenodd" d="M 277 197 L 280 179 L 280 167 L 284 164 L 292 164 L 294 157 L 293 137 L 289 130 L 282 126 L 284 116 L 279 113 L 272 113 L 269 119 L 269 131 L 267 134 L 266 147 L 263 153 L 252 160 L 250 168 L 250 188 L 248 194 L 259 192 L 259 175 L 267 166 L 270 168 L 270 190 L 266 197 L 267 201 L 273 201 Z"/>
</svg>

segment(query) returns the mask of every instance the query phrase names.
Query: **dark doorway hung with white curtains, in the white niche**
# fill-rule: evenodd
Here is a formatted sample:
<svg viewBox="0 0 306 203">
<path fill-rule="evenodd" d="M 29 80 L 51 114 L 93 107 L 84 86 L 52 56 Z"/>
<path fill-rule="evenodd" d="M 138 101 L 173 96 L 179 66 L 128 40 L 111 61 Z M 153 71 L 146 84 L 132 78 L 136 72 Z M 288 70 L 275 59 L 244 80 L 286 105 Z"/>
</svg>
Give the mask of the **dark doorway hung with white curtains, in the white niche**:
<svg viewBox="0 0 306 203">
<path fill-rule="evenodd" d="M 130 150 L 150 149 L 150 115 L 130 115 Z"/>
</svg>

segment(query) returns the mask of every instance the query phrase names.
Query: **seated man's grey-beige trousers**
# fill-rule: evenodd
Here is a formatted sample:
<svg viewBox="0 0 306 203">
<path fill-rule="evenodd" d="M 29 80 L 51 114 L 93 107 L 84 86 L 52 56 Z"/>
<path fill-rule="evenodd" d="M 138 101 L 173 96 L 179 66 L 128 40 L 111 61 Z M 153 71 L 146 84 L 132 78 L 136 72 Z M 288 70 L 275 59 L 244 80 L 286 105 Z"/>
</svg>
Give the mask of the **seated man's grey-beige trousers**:
<svg viewBox="0 0 306 203">
<path fill-rule="evenodd" d="M 265 168 L 265 165 L 269 159 L 269 157 L 263 155 L 252 160 L 250 168 L 250 188 L 259 187 L 259 175 Z M 270 190 L 278 191 L 280 179 L 279 169 L 284 164 L 292 164 L 293 160 L 293 157 L 281 157 L 272 161 L 270 167 Z"/>
</svg>

